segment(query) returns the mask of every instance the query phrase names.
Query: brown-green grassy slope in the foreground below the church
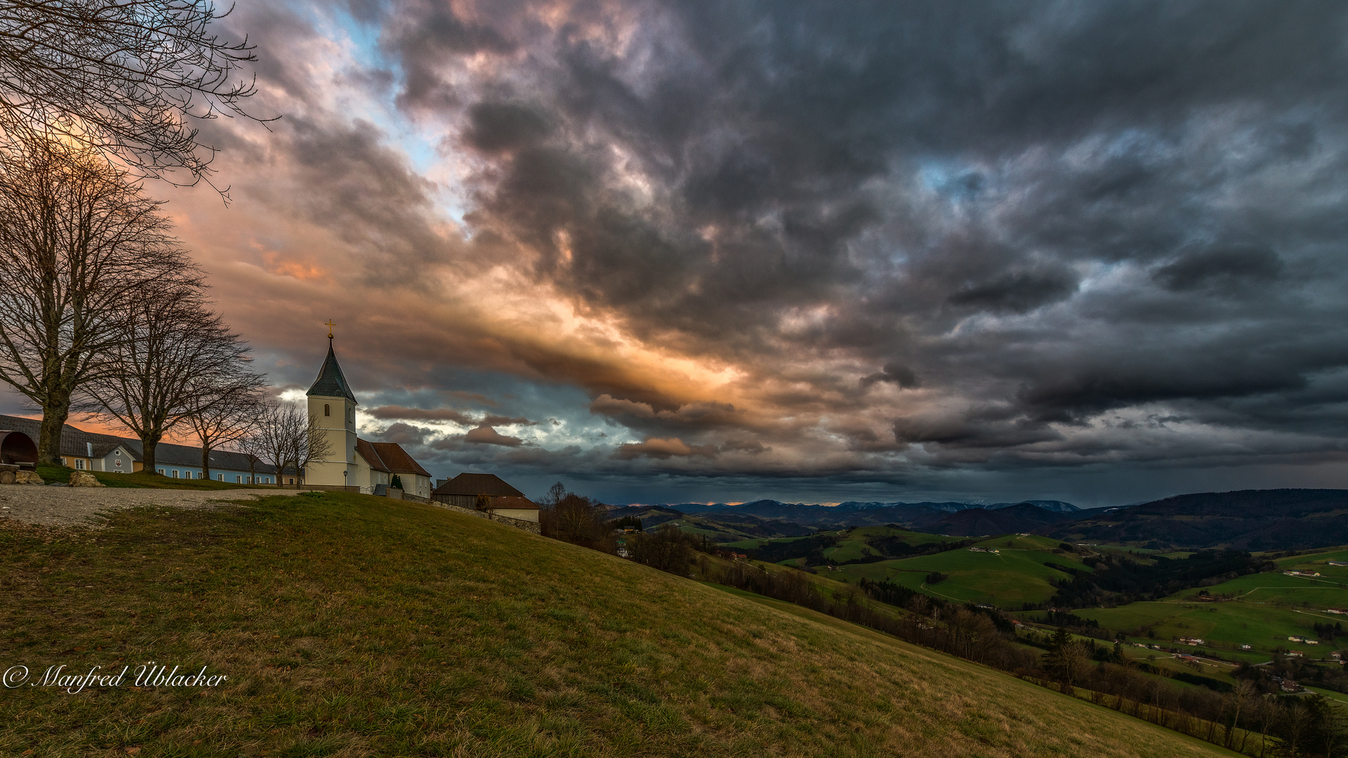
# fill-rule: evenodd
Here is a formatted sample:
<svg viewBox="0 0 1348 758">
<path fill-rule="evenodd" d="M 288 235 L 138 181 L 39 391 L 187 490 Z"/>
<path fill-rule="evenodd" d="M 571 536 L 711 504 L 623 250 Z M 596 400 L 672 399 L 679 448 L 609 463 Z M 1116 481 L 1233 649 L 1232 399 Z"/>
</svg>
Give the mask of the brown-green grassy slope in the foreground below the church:
<svg viewBox="0 0 1348 758">
<path fill-rule="evenodd" d="M 350 494 L 3 522 L 0 645 L 217 688 L 0 689 L 0 754 L 1216 755 L 802 608 Z M 139 749 L 139 750 L 137 750 Z"/>
</svg>

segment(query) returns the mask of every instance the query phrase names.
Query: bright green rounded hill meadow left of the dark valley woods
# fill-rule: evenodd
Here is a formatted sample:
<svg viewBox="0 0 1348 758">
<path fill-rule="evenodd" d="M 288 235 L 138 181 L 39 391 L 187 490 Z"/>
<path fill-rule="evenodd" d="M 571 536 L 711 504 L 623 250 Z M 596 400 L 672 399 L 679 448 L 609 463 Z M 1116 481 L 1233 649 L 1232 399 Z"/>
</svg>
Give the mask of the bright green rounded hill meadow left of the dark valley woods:
<svg viewBox="0 0 1348 758">
<path fill-rule="evenodd" d="M 984 542 L 999 553 L 948 550 L 915 558 L 847 565 L 841 566 L 838 576 L 848 581 L 863 577 L 872 581 L 888 580 L 944 600 L 985 603 L 1014 610 L 1022 603 L 1042 603 L 1051 597 L 1055 589 L 1049 584 L 1049 579 L 1070 579 L 1070 575 L 1051 569 L 1043 565 L 1045 562 L 1091 571 L 1068 554 L 1055 554 L 1045 549 L 1006 548 L 1006 541 L 998 538 Z M 1003 546 L 996 546 L 999 544 Z M 927 584 L 926 576 L 930 572 L 945 573 L 949 579 L 940 584 Z"/>
</svg>

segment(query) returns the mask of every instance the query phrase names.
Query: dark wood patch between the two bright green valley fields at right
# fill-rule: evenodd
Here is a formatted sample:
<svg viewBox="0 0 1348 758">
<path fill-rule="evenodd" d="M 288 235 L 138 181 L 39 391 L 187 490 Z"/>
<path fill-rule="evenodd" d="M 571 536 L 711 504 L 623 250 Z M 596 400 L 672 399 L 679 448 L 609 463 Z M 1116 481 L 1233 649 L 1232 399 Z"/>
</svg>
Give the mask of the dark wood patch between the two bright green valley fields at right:
<svg viewBox="0 0 1348 758">
<path fill-rule="evenodd" d="M 1095 572 L 1069 572 L 1074 575 L 1073 579 L 1055 581 L 1057 593 L 1049 604 L 1088 608 L 1105 603 L 1122 606 L 1138 600 L 1155 600 L 1181 589 L 1219 584 L 1273 566 L 1263 558 L 1239 550 L 1200 550 L 1186 558 L 1153 560 L 1154 564 L 1148 565 L 1116 554 L 1084 558 L 1082 562 Z"/>
</svg>

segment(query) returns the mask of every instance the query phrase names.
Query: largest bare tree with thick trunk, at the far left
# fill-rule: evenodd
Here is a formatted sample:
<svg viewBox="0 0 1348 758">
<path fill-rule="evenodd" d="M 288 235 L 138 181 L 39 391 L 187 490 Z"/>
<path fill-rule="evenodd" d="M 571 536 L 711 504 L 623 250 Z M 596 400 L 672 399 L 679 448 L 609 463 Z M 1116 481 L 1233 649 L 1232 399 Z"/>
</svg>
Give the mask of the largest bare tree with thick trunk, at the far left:
<svg viewBox="0 0 1348 758">
<path fill-rule="evenodd" d="M 117 368 L 133 303 L 197 276 L 167 228 L 93 150 L 0 147 L 0 380 L 42 410 L 42 463 L 59 463 L 80 388 Z"/>
</svg>

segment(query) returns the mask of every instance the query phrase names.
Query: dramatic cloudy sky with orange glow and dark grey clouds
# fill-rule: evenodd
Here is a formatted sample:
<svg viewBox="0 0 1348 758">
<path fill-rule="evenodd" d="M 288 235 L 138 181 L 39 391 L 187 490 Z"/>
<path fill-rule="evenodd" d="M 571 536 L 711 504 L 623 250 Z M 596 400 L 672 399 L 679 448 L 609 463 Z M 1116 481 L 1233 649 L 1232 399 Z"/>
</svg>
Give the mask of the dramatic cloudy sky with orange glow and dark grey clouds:
<svg viewBox="0 0 1348 758">
<path fill-rule="evenodd" d="M 607 502 L 1348 487 L 1341 3 L 240 0 L 278 391 Z M 8 410 L 18 409 L 9 398 Z"/>
</svg>

